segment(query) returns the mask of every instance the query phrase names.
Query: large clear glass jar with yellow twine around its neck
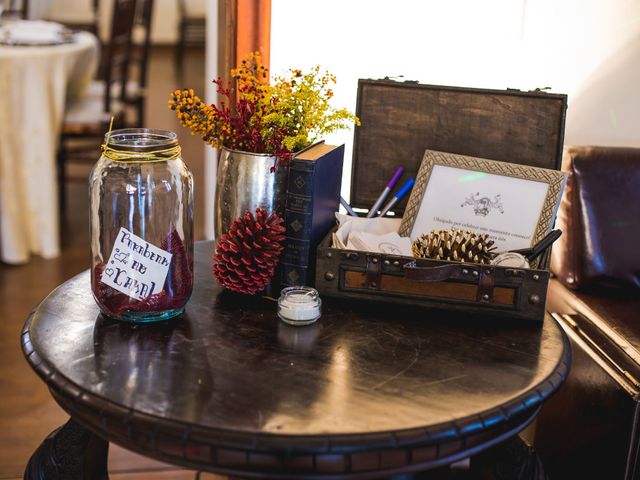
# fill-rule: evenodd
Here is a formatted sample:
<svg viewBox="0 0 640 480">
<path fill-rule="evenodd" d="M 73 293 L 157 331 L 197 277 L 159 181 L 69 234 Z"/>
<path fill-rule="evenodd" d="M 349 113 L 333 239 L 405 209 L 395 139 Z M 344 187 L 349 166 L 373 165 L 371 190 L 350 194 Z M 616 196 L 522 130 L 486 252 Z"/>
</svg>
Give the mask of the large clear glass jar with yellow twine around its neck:
<svg viewBox="0 0 640 480">
<path fill-rule="evenodd" d="M 102 313 L 130 322 L 180 315 L 193 287 L 193 177 L 176 134 L 108 133 L 89 191 L 91 289 Z"/>
</svg>

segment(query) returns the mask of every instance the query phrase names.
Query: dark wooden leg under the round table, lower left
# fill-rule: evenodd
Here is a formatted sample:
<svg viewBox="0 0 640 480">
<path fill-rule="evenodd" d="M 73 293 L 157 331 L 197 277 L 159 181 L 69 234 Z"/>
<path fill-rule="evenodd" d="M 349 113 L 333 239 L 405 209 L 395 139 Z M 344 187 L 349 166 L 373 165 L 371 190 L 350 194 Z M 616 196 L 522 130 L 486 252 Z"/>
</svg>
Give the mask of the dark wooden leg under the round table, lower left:
<svg viewBox="0 0 640 480">
<path fill-rule="evenodd" d="M 108 480 L 109 443 L 69 419 L 29 459 L 25 480 Z"/>
</svg>

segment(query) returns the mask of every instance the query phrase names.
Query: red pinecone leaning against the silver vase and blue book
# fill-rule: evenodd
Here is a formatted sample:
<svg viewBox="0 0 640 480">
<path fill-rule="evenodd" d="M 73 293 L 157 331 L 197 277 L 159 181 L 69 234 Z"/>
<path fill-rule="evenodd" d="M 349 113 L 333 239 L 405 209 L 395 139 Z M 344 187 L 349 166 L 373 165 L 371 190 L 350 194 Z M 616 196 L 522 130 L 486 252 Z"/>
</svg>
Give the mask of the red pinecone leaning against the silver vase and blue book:
<svg viewBox="0 0 640 480">
<path fill-rule="evenodd" d="M 218 283 L 234 292 L 253 295 L 271 281 L 284 248 L 284 220 L 277 213 L 248 210 L 220 237 L 213 260 Z"/>
</svg>

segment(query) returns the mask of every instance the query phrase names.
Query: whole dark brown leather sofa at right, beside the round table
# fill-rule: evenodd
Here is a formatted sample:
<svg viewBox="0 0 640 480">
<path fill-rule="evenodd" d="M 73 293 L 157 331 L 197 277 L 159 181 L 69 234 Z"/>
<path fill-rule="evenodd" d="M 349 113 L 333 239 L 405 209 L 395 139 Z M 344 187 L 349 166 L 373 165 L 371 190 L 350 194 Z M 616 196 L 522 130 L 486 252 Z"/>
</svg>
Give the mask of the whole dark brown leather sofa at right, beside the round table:
<svg viewBox="0 0 640 480">
<path fill-rule="evenodd" d="M 535 447 L 549 477 L 640 478 L 640 148 L 568 147 L 547 310 L 567 332 L 569 378 Z"/>
</svg>

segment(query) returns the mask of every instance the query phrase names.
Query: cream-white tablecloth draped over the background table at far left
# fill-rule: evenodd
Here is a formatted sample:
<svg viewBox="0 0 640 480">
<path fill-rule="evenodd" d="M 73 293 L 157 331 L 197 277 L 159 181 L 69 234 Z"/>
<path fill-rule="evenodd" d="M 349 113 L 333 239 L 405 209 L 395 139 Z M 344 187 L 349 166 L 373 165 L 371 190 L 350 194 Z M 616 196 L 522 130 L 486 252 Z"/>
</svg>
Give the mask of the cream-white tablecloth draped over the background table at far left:
<svg viewBox="0 0 640 480">
<path fill-rule="evenodd" d="M 56 150 L 65 104 L 84 94 L 98 58 L 97 39 L 0 46 L 0 258 L 60 253 Z M 97 148 L 97 147 L 96 147 Z M 97 151 L 97 150 L 96 150 Z"/>
</svg>

